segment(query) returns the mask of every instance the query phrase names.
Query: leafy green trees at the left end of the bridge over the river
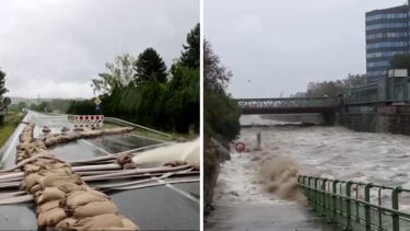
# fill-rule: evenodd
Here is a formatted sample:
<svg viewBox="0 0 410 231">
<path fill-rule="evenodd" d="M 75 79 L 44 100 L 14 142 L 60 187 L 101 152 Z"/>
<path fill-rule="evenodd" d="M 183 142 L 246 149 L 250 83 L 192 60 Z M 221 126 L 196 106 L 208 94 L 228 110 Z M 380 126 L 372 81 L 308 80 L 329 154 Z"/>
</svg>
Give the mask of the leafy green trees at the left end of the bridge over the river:
<svg viewBox="0 0 410 231">
<path fill-rule="evenodd" d="M 239 109 L 226 95 L 225 88 L 231 72 L 220 62 L 208 42 L 204 43 L 204 134 L 218 139 L 231 141 L 239 134 Z"/>
</svg>

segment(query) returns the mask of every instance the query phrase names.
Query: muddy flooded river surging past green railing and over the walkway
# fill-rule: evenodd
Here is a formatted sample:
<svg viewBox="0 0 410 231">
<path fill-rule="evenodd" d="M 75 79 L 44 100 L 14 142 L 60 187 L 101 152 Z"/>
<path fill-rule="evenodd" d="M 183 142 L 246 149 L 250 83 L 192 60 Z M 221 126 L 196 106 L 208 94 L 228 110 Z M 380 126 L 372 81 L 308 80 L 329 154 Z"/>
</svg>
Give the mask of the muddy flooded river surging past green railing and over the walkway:
<svg viewBox="0 0 410 231">
<path fill-rule="evenodd" d="M 306 118 L 305 123 L 315 123 L 315 116 Z M 269 230 L 269 227 L 271 230 L 281 230 L 273 224 L 263 224 L 249 218 L 258 216 L 257 211 L 267 207 L 276 209 L 269 210 L 270 216 L 265 217 L 263 221 L 277 219 L 277 224 L 286 223 L 286 218 L 281 220 L 280 213 L 291 210 L 296 218 L 303 215 L 300 222 L 288 222 L 283 229 L 337 230 L 316 221 L 308 208 L 303 206 L 303 201 L 295 201 L 297 197 L 284 198 L 278 195 L 280 189 L 277 187 L 284 185 L 285 181 L 280 182 L 279 186 L 274 185 L 274 194 L 270 193 L 273 186 L 269 180 L 263 178 L 263 160 L 277 162 L 274 168 L 291 165 L 290 171 L 298 174 L 410 188 L 409 136 L 355 132 L 342 127 L 306 126 L 258 115 L 243 116 L 241 124 L 246 126 L 242 128 L 239 138 L 247 147 L 246 153 L 232 153 L 232 160 L 221 166 L 215 189 L 215 210 L 208 219 L 208 230 L 233 230 L 238 228 L 238 224 L 248 226 L 249 230 Z M 258 132 L 261 134 L 260 150 L 256 150 Z M 288 189 L 285 194 L 289 193 Z M 405 197 L 401 201 L 400 210 L 409 210 L 409 198 Z M 253 211 L 247 211 L 246 219 L 249 222 L 244 222 L 242 215 L 242 223 L 235 221 L 241 217 L 238 211 L 249 206 L 254 207 Z M 278 208 L 285 209 L 278 212 Z"/>
</svg>

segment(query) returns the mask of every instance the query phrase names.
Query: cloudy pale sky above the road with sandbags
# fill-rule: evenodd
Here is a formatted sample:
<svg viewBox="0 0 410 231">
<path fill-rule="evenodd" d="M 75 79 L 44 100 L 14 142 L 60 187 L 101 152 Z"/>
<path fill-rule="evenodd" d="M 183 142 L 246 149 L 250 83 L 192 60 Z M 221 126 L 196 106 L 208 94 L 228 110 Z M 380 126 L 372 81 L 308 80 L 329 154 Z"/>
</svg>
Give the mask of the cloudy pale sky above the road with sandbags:
<svg viewBox="0 0 410 231">
<path fill-rule="evenodd" d="M 199 0 L 2 0 L 0 22 L 8 95 L 90 97 L 90 79 L 117 55 L 178 58 Z"/>
</svg>

